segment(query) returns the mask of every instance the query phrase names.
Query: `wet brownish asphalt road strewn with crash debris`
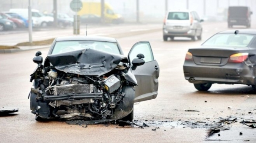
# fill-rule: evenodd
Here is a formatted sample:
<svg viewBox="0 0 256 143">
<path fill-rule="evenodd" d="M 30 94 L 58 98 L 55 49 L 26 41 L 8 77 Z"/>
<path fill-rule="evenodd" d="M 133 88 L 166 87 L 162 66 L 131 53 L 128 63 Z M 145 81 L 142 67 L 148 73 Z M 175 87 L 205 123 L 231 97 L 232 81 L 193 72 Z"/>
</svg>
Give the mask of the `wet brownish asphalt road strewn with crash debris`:
<svg viewBox="0 0 256 143">
<path fill-rule="evenodd" d="M 161 25 L 154 26 L 159 26 L 161 29 Z M 122 29 L 105 27 L 102 31 L 113 30 L 112 32 L 122 33 L 132 29 L 150 29 L 145 25 L 134 27 L 122 27 Z M 36 67 L 32 58 L 38 50 L 0 54 L 0 107 L 20 110 L 14 116 L 0 117 L 0 142 L 201 143 L 222 141 L 239 143 L 243 140 L 256 142 L 256 129 L 239 123 L 242 120 L 256 118 L 256 110 L 254 110 L 256 98 L 253 98 L 255 94 L 250 87 L 213 84 L 209 92 L 198 92 L 183 76 L 183 62 L 187 49 L 199 46 L 212 34 L 226 30 L 226 27 L 226 23 L 204 24 L 203 40 L 195 42 L 188 38 L 164 42 L 162 31 L 118 39 L 126 54 L 137 41 L 150 41 L 155 59 L 160 65 L 157 98 L 134 105 L 134 120 L 138 124 L 144 122 L 150 126 L 145 129 L 117 125 L 106 127 L 101 124 L 88 125 L 84 128 L 65 122 L 36 122 L 34 114 L 30 113 L 27 96 L 32 86 L 29 75 Z M 6 43 L 12 43 L 14 36 L 20 36 L 22 39 L 25 35 L 6 35 L 4 36 L 8 41 Z M 16 39 L 13 41 L 17 42 Z M 43 56 L 46 56 L 48 49 L 40 49 L 40 51 Z M 228 109 L 229 106 L 231 109 Z M 221 118 L 229 116 L 236 116 L 239 122 L 233 123 L 230 130 L 221 131 L 220 136 L 213 134 L 207 137 L 210 127 Z M 160 128 L 156 131 L 151 130 L 156 127 Z M 240 132 L 243 133 L 242 136 L 239 136 Z"/>
</svg>

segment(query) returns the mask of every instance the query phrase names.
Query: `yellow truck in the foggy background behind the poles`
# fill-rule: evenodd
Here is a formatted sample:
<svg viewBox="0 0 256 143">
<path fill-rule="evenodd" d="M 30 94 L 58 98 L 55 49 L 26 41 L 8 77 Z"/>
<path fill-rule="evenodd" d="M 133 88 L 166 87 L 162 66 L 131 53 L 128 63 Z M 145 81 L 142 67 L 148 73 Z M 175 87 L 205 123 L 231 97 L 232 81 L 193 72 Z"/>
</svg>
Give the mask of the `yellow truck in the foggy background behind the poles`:
<svg viewBox="0 0 256 143">
<path fill-rule="evenodd" d="M 120 14 L 114 13 L 112 7 L 108 4 L 104 4 L 104 17 L 105 23 L 123 23 L 124 20 Z M 94 14 L 101 17 L 101 3 L 100 2 L 83 2 L 82 9 L 78 12 L 79 16 Z"/>
</svg>

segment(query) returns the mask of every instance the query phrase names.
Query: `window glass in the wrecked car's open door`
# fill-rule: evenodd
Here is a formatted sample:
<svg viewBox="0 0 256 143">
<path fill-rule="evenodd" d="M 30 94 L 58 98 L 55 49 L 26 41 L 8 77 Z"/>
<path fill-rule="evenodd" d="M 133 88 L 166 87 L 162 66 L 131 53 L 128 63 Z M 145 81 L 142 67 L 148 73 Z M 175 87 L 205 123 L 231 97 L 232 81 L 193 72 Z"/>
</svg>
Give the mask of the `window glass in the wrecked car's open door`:
<svg viewBox="0 0 256 143">
<path fill-rule="evenodd" d="M 137 58 L 138 54 L 144 54 L 145 58 L 143 60 L 145 60 L 145 62 L 154 60 L 151 46 L 148 42 L 135 44 L 129 53 L 129 60 L 132 61 L 134 58 Z"/>
</svg>

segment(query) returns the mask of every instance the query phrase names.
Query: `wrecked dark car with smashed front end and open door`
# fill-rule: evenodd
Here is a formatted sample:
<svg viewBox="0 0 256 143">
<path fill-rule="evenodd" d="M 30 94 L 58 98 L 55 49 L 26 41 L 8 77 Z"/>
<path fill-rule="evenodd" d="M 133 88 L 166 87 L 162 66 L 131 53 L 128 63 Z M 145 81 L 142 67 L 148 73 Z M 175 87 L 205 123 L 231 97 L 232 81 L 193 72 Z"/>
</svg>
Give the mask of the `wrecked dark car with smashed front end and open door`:
<svg viewBox="0 0 256 143">
<path fill-rule="evenodd" d="M 38 51 L 30 109 L 36 120 L 133 120 L 134 102 L 155 99 L 159 66 L 150 43 L 128 57 L 114 38 L 58 37 L 44 63 Z"/>
</svg>

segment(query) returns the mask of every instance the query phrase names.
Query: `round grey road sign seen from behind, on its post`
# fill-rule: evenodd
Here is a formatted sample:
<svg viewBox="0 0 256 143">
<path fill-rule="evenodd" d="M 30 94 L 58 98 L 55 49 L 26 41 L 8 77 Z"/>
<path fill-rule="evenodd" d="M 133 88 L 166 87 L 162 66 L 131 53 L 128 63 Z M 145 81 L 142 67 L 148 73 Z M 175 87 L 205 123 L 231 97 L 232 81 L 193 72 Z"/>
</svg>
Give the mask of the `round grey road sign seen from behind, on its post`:
<svg viewBox="0 0 256 143">
<path fill-rule="evenodd" d="M 74 16 L 74 24 L 73 24 L 73 33 L 75 35 L 80 34 L 80 17 L 77 12 L 80 11 L 83 7 L 83 3 L 80 0 L 72 0 L 70 3 L 70 9 L 76 12 Z"/>
</svg>

